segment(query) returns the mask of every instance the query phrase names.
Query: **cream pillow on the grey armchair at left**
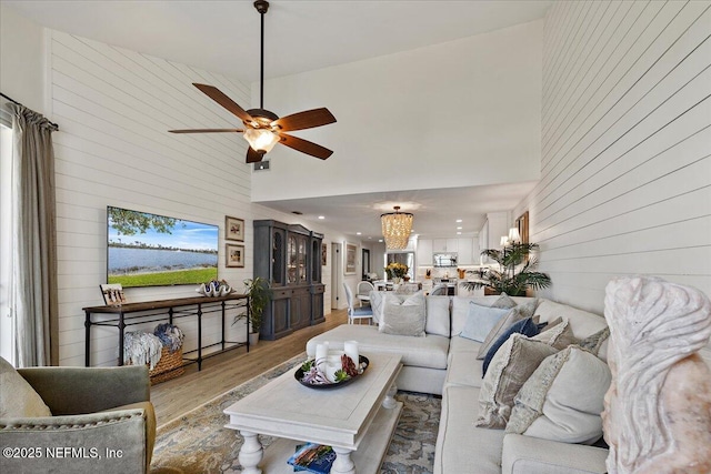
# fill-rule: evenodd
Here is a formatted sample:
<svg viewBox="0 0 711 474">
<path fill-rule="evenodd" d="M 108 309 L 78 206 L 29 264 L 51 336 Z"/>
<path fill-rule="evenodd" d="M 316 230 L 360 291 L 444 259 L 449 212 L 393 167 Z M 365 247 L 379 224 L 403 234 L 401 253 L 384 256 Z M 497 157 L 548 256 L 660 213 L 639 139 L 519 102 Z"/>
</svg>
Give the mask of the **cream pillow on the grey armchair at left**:
<svg viewBox="0 0 711 474">
<path fill-rule="evenodd" d="M 0 418 L 52 416 L 32 385 L 0 357 Z"/>
</svg>

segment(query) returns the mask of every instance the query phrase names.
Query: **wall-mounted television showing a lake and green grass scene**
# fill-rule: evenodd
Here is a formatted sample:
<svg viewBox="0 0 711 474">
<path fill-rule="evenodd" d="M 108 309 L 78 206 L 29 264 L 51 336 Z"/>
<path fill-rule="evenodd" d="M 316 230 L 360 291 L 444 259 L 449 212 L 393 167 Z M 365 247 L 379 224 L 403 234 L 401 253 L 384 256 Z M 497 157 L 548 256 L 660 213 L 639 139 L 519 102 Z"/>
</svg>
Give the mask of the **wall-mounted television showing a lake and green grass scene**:
<svg viewBox="0 0 711 474">
<path fill-rule="evenodd" d="M 107 283 L 166 286 L 218 278 L 218 225 L 110 205 L 107 224 Z"/>
</svg>

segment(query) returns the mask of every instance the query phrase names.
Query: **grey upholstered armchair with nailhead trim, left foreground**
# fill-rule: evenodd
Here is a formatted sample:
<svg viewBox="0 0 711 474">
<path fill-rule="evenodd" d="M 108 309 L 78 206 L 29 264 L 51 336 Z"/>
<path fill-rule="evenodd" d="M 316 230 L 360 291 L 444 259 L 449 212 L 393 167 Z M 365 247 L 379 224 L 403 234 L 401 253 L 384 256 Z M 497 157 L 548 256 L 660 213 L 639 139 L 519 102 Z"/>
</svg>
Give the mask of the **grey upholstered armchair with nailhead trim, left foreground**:
<svg viewBox="0 0 711 474">
<path fill-rule="evenodd" d="M 154 441 L 147 366 L 16 371 L 0 359 L 0 472 L 147 473 Z"/>
</svg>

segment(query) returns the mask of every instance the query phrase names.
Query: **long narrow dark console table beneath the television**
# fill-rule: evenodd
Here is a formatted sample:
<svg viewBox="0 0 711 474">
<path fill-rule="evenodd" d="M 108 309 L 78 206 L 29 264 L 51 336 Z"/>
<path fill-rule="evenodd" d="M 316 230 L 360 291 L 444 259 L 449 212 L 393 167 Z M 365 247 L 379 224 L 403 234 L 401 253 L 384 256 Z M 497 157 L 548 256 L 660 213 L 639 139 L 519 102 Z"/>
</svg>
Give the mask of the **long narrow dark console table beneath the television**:
<svg viewBox="0 0 711 474">
<path fill-rule="evenodd" d="M 191 307 L 192 306 L 192 307 Z M 247 317 L 247 341 L 227 341 L 224 335 L 226 309 L 244 309 L 238 314 L 239 319 Z M 187 364 L 197 363 L 198 370 L 202 369 L 202 361 L 222 352 L 247 346 L 249 352 L 249 296 L 246 294 L 228 294 L 224 296 L 189 296 L 172 300 L 143 301 L 140 303 L 127 303 L 117 306 L 88 306 L 82 307 L 86 320 L 86 346 L 84 365 L 90 366 L 91 357 L 91 326 L 113 326 L 119 330 L 119 365 L 123 365 L 123 332 L 127 326 L 134 324 L 153 323 L 168 320 L 171 324 L 179 317 L 198 317 L 198 349 L 183 354 L 198 353 L 196 359 L 184 357 Z M 208 313 L 222 313 L 222 337 L 214 344 L 202 345 L 202 315 Z M 143 314 L 136 314 L 143 313 Z M 101 317 L 98 315 L 108 315 Z M 98 321 L 100 319 L 100 321 Z M 229 344 L 229 346 L 228 346 Z M 202 350 L 221 345 L 220 351 L 212 352 L 207 356 L 202 355 Z"/>
</svg>

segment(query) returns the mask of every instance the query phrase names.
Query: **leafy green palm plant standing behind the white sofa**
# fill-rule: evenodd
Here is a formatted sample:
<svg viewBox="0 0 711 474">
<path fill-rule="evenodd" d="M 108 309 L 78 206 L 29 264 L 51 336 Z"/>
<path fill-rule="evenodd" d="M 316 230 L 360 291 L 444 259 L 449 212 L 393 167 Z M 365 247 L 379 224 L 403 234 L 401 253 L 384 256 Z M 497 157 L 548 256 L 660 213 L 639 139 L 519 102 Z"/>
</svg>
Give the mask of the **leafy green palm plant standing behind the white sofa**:
<svg viewBox="0 0 711 474">
<path fill-rule="evenodd" d="M 530 288 L 539 290 L 552 284 L 551 278 L 537 272 L 538 259 L 531 252 L 538 250 L 537 243 L 511 242 L 503 249 L 487 249 L 481 252 L 499 264 L 499 269 L 488 269 L 483 273 L 469 270 L 468 273 L 479 274 L 479 280 L 462 282 L 467 290 L 484 289 L 484 294 L 507 293 L 510 296 L 525 296 Z"/>
</svg>

